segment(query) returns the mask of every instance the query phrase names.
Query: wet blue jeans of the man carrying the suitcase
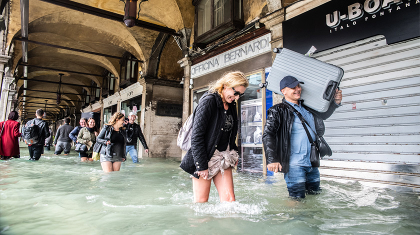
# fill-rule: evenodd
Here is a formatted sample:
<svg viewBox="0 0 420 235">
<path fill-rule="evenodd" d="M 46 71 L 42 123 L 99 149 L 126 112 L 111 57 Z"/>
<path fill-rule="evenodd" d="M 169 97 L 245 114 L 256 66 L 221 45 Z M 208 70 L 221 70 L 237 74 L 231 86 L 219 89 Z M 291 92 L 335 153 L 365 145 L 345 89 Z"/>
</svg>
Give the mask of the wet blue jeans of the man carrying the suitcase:
<svg viewBox="0 0 420 235">
<path fill-rule="evenodd" d="M 316 193 L 319 191 L 319 170 L 317 167 L 289 165 L 284 174 L 289 196 L 305 197 L 305 191 Z"/>
</svg>

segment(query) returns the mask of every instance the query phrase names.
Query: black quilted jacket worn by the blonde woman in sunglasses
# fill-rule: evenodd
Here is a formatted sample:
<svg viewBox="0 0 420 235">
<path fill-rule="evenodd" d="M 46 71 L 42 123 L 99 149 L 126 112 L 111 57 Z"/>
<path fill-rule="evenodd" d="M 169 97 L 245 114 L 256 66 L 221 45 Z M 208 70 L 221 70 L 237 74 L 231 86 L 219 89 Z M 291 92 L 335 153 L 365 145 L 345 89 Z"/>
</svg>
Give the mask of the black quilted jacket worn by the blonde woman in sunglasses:
<svg viewBox="0 0 420 235">
<path fill-rule="evenodd" d="M 226 111 L 218 93 L 205 93 L 195 110 L 192 124 L 191 148 L 182 158 L 181 167 L 186 172 L 199 178 L 195 171 L 208 169 L 208 161 L 213 156 L 223 133 Z M 236 102 L 229 103 L 233 113 L 233 128 L 230 134 L 229 148 L 237 151 L 235 143 L 237 134 Z"/>
</svg>

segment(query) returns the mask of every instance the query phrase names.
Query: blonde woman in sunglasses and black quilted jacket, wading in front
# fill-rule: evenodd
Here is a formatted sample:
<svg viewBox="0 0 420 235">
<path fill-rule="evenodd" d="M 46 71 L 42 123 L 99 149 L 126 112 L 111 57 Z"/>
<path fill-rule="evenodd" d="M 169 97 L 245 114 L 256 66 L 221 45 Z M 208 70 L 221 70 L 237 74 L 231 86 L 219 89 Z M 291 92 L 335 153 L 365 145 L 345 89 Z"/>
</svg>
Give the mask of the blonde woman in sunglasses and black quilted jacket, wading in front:
<svg viewBox="0 0 420 235">
<path fill-rule="evenodd" d="M 220 201 L 234 201 L 232 167 L 237 164 L 236 100 L 248 80 L 240 71 L 224 74 L 210 84 L 195 109 L 191 148 L 179 165 L 191 174 L 194 202 L 206 202 L 211 179 Z"/>
</svg>

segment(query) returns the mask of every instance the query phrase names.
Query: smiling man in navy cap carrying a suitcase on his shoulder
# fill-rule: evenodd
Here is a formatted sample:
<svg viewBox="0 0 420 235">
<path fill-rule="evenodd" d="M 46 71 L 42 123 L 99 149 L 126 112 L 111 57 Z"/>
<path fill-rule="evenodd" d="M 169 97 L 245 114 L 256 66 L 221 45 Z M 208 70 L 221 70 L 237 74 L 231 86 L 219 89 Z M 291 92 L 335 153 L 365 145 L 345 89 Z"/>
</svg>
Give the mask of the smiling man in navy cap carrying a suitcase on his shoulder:
<svg viewBox="0 0 420 235">
<path fill-rule="evenodd" d="M 336 90 L 334 102 L 326 112 L 317 112 L 299 100 L 302 81 L 293 76 L 285 76 L 280 81 L 280 90 L 284 95 L 281 103 L 275 104 L 267 111 L 262 142 L 264 145 L 267 169 L 283 172 L 287 190 L 292 197 L 305 197 L 305 191 L 319 191 L 319 171 L 312 167 L 309 160 L 310 142 L 306 131 L 291 107 L 294 107 L 309 123 L 306 125 L 312 139 L 315 133 L 321 136 L 325 130 L 323 120 L 332 115 L 340 105 L 341 90 Z"/>
</svg>

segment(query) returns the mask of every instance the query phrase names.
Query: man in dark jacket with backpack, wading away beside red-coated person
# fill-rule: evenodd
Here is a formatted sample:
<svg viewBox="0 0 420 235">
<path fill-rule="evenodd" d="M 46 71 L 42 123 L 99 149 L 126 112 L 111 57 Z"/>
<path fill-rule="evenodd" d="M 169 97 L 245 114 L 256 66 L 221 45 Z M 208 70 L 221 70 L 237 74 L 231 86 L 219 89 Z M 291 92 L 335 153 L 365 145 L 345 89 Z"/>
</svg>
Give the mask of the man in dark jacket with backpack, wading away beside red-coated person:
<svg viewBox="0 0 420 235">
<path fill-rule="evenodd" d="M 36 118 L 30 120 L 38 127 L 38 138 L 39 141 L 35 144 L 29 144 L 29 160 L 39 160 L 41 154 L 43 153 L 43 145 L 45 143 L 45 138 L 49 136 L 48 124 L 42 120 L 43 110 L 39 108 L 35 112 Z"/>
</svg>

